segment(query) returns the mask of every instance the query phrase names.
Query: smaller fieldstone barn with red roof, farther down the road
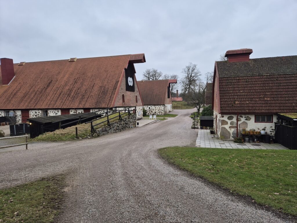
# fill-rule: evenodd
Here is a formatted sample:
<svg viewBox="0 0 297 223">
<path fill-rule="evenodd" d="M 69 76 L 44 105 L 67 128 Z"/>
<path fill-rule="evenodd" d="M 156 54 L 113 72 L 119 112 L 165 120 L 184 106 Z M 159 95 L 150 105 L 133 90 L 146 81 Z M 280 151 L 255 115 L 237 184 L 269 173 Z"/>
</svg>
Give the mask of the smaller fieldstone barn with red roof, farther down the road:
<svg viewBox="0 0 297 223">
<path fill-rule="evenodd" d="M 177 83 L 172 80 L 138 81 L 143 108 L 147 114 L 163 115 L 172 111 L 170 84 Z"/>
</svg>

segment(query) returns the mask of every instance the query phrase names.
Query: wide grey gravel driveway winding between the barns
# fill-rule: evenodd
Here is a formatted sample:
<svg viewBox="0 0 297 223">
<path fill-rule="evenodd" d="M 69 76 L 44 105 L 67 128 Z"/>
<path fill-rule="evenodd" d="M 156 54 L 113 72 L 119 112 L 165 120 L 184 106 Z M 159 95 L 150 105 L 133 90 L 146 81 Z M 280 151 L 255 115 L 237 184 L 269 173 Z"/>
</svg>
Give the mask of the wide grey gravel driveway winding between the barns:
<svg viewBox="0 0 297 223">
<path fill-rule="evenodd" d="M 195 145 L 193 111 L 96 139 L 0 153 L 0 187 L 66 172 L 58 222 L 285 222 L 159 158 L 158 148 Z"/>
</svg>

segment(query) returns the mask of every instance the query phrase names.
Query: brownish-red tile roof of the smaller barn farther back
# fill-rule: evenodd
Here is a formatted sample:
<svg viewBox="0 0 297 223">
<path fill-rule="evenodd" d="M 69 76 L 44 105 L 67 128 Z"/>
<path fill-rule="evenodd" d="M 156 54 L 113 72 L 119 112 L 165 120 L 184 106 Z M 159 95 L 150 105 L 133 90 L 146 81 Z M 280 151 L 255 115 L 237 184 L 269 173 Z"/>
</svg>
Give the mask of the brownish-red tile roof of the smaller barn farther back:
<svg viewBox="0 0 297 223">
<path fill-rule="evenodd" d="M 169 80 L 137 81 L 143 105 L 164 105 Z"/>
</svg>

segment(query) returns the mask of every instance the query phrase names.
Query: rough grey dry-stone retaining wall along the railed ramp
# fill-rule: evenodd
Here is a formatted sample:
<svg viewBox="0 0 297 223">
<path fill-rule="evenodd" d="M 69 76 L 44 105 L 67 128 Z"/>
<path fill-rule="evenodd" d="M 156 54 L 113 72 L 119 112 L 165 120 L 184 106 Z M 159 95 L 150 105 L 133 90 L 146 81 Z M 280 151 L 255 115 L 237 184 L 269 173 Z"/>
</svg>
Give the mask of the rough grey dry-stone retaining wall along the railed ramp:
<svg viewBox="0 0 297 223">
<path fill-rule="evenodd" d="M 102 128 L 96 129 L 92 134 L 93 137 L 103 136 L 107 134 L 111 134 L 114 132 L 121 132 L 129 128 L 136 127 L 137 114 L 127 115 L 123 118 L 123 120 L 117 120 L 111 125 L 105 125 Z"/>
</svg>

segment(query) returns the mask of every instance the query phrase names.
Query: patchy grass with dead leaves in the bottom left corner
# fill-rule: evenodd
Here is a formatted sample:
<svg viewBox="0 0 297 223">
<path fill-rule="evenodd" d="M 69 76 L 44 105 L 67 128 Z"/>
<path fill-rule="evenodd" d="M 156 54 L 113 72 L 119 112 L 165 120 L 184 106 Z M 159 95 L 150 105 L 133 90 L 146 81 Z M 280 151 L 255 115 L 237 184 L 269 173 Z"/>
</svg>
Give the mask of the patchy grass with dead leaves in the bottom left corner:
<svg viewBox="0 0 297 223">
<path fill-rule="evenodd" d="M 60 175 L 0 190 L 0 222 L 53 222 L 63 187 Z"/>
</svg>

